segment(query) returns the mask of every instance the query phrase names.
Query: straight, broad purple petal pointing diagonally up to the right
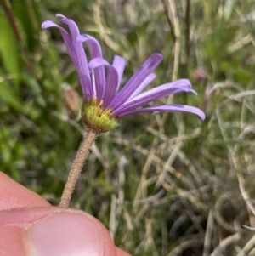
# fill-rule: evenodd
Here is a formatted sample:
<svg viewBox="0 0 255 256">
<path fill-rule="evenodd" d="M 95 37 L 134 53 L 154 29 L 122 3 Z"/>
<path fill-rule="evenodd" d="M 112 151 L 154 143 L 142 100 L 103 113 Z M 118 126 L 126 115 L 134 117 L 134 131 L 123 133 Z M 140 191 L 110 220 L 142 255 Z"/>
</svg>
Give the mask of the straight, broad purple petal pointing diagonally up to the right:
<svg viewBox="0 0 255 256">
<path fill-rule="evenodd" d="M 150 75 L 161 63 L 163 56 L 161 54 L 152 54 L 149 59 L 147 59 L 144 64 L 133 74 L 127 84 L 122 88 L 122 90 L 116 94 L 116 96 L 111 100 L 111 109 L 117 109 L 120 107 L 127 99 L 133 94 L 133 92 L 139 87 L 139 85 L 144 82 L 144 79 Z"/>
</svg>

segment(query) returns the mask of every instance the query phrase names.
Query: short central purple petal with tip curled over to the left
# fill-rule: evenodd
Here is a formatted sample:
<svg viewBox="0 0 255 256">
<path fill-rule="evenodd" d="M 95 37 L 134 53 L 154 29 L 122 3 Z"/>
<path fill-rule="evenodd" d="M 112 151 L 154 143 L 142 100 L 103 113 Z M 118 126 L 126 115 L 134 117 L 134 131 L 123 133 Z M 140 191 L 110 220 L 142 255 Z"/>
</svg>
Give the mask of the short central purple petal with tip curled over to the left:
<svg viewBox="0 0 255 256">
<path fill-rule="evenodd" d="M 91 60 L 88 64 L 90 69 L 97 68 L 101 65 L 106 65 L 108 67 L 106 85 L 105 85 L 105 96 L 103 101 L 103 108 L 109 107 L 112 97 L 116 94 L 116 88 L 118 85 L 118 73 L 116 68 L 110 65 L 105 59 L 95 58 Z"/>
</svg>

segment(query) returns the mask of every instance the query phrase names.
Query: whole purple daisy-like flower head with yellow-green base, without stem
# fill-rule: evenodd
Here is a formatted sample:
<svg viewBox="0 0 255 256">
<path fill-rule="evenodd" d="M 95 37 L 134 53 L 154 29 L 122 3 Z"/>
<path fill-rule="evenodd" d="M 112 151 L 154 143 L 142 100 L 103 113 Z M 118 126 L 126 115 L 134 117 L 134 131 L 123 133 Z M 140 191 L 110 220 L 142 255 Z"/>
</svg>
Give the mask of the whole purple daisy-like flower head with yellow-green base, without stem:
<svg viewBox="0 0 255 256">
<path fill-rule="evenodd" d="M 65 18 L 62 14 L 57 14 L 57 16 L 69 27 L 70 32 L 51 20 L 44 21 L 42 28 L 55 26 L 62 34 L 80 79 L 84 95 L 82 119 L 88 128 L 97 133 L 107 132 L 115 128 L 122 117 L 154 111 L 184 111 L 194 113 L 201 119 L 205 118 L 203 111 L 190 105 L 155 105 L 141 108 L 143 105 L 171 94 L 196 93 L 187 79 L 168 82 L 142 92 L 156 78 L 152 72 L 161 63 L 163 59 L 161 54 L 152 54 L 120 89 L 126 60 L 116 55 L 113 63 L 110 64 L 103 58 L 99 42 L 94 37 L 80 34 L 73 20 Z M 89 62 L 82 43 L 88 45 L 91 58 Z M 106 74 L 105 67 L 107 68 Z"/>
</svg>

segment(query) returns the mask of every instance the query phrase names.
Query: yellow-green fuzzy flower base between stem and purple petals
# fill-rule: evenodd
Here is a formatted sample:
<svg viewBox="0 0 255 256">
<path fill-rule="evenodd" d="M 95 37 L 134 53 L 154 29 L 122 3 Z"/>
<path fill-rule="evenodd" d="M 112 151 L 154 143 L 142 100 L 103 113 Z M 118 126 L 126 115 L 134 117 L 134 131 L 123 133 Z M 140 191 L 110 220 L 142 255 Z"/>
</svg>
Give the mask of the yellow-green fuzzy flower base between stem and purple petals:
<svg viewBox="0 0 255 256">
<path fill-rule="evenodd" d="M 95 133 L 106 133 L 116 128 L 118 119 L 111 117 L 111 109 L 102 109 L 103 100 L 98 104 L 94 97 L 82 103 L 82 121 Z"/>
</svg>

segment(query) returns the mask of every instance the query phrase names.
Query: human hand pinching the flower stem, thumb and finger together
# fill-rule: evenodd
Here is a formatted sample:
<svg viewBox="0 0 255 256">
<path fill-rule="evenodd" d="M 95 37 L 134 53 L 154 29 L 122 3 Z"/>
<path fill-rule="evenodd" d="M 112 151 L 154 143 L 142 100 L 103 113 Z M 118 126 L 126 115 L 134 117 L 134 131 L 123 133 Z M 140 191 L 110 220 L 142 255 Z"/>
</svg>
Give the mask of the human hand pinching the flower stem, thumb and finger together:
<svg viewBox="0 0 255 256">
<path fill-rule="evenodd" d="M 98 219 L 51 206 L 0 172 L 0 256 L 128 256 Z M 129 255 L 130 256 L 130 255 Z"/>
</svg>

